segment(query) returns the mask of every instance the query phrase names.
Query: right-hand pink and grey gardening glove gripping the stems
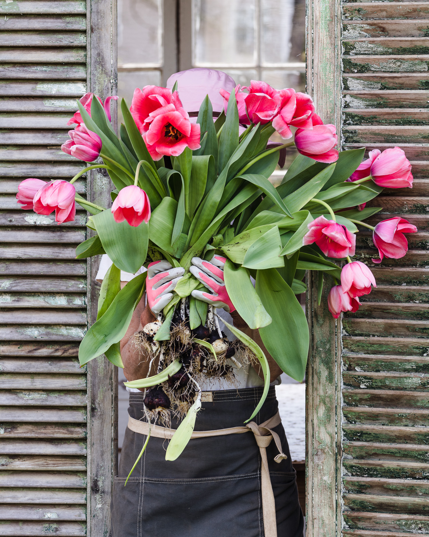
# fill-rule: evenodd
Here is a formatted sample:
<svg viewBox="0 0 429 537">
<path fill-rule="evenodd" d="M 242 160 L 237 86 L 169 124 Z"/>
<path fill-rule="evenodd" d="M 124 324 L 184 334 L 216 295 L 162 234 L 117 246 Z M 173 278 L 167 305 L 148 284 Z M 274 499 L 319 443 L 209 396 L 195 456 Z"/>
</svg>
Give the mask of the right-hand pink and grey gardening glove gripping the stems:
<svg viewBox="0 0 429 537">
<path fill-rule="evenodd" d="M 189 271 L 213 293 L 209 294 L 201 291 L 201 289 L 195 289 L 192 292 L 192 296 L 203 302 L 208 302 L 216 308 L 223 308 L 228 313 L 232 313 L 235 311 L 234 304 L 228 296 L 224 282 L 223 269 L 225 262 L 225 257 L 217 255 L 213 256 L 210 262 L 199 257 L 192 258 L 192 265 Z"/>
</svg>

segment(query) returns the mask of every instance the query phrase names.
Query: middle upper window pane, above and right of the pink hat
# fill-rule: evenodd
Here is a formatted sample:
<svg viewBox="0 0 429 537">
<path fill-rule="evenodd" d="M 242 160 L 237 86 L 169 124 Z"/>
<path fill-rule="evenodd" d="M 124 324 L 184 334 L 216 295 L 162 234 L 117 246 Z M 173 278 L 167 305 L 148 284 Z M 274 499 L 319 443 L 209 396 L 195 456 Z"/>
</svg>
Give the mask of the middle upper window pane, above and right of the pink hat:
<svg viewBox="0 0 429 537">
<path fill-rule="evenodd" d="M 194 66 L 255 66 L 256 0 L 193 0 Z"/>
</svg>

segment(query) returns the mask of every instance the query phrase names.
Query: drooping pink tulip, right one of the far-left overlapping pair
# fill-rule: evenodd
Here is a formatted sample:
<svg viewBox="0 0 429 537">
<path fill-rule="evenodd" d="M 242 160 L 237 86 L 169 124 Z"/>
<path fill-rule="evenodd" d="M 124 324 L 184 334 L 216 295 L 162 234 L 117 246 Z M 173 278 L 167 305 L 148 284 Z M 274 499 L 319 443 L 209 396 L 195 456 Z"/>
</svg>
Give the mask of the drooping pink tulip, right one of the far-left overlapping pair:
<svg viewBox="0 0 429 537">
<path fill-rule="evenodd" d="M 76 214 L 75 195 L 76 188 L 68 181 L 46 183 L 34 196 L 34 212 L 50 214 L 55 211 L 55 222 L 72 222 Z"/>
</svg>

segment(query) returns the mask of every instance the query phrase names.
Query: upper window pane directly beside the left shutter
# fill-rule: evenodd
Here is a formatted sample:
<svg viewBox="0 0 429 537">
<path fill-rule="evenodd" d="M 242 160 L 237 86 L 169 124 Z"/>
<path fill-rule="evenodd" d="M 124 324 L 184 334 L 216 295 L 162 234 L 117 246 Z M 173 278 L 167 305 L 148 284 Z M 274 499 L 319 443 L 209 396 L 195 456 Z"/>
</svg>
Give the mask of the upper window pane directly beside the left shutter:
<svg viewBox="0 0 429 537">
<path fill-rule="evenodd" d="M 162 64 L 162 0 L 118 0 L 117 62 Z"/>
</svg>

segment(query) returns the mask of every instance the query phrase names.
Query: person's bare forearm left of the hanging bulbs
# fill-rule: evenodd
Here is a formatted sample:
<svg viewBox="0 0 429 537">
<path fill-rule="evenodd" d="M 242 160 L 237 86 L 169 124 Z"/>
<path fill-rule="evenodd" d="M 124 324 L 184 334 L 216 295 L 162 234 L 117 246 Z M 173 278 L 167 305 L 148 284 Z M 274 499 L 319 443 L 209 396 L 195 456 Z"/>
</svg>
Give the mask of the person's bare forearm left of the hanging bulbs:
<svg viewBox="0 0 429 537">
<path fill-rule="evenodd" d="M 147 323 L 155 321 L 155 317 L 149 308 L 149 304 L 145 307 L 146 297 L 138 303 L 134 314 L 132 314 L 131 322 L 125 336 L 121 339 L 120 349 L 122 362 L 124 364 L 124 375 L 128 381 L 143 379 L 149 371 L 149 358 L 144 350 L 137 349 L 133 336 L 136 332 L 143 330 L 143 326 Z M 156 362 L 156 363 L 155 363 Z M 154 360 L 151 368 L 151 375 L 156 373 L 158 360 Z"/>
</svg>

